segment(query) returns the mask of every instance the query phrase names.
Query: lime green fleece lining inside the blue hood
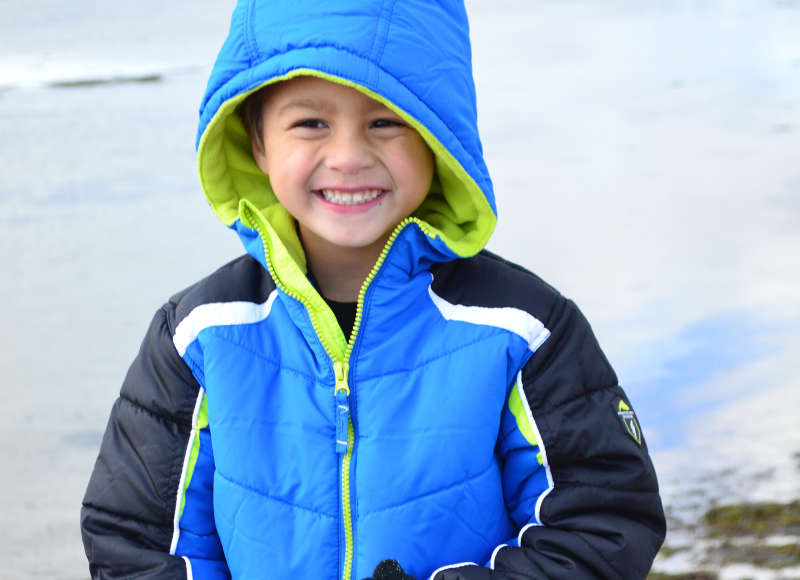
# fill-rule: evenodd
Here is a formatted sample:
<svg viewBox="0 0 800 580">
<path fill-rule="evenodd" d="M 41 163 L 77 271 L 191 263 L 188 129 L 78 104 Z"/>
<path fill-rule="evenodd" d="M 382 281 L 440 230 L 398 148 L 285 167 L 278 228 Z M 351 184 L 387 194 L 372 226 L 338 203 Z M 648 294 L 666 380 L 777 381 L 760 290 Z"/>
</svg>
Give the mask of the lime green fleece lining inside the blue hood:
<svg viewBox="0 0 800 580">
<path fill-rule="evenodd" d="M 253 158 L 250 138 L 237 107 L 251 93 L 275 82 L 297 76 L 315 76 L 352 87 L 383 103 L 411 125 L 434 153 L 436 175 L 427 197 L 413 217 L 424 222 L 426 233 L 441 238 L 454 254 L 468 257 L 478 253 L 492 234 L 496 217 L 483 191 L 453 155 L 419 121 L 398 109 L 384 97 L 345 79 L 310 69 L 294 70 L 236 95 L 219 108 L 198 146 L 198 172 L 203 191 L 217 217 L 231 226 L 238 218 L 246 225 L 244 208 L 260 214 L 269 224 L 265 240 L 306 271 L 305 254 L 295 229 L 294 218 L 278 202 Z M 415 220 L 416 221 L 416 220 Z M 277 243 L 276 243 L 277 242 Z M 279 249 L 280 246 L 283 246 Z M 283 262 L 282 259 L 276 260 Z M 276 266 L 277 267 L 277 266 Z"/>
</svg>

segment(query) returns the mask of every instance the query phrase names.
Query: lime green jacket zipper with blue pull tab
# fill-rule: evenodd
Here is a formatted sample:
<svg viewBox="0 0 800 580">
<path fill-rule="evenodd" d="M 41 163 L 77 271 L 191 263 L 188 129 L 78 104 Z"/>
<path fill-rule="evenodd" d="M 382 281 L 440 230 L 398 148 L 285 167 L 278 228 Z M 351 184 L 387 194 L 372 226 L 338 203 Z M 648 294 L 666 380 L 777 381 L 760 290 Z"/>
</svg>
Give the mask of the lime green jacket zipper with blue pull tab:
<svg viewBox="0 0 800 580">
<path fill-rule="evenodd" d="M 394 241 L 397 239 L 397 236 L 400 232 L 410 223 L 416 223 L 420 229 L 429 237 L 434 237 L 435 234 L 430 230 L 430 228 L 422 222 L 421 220 L 408 217 L 401 221 L 395 229 L 392 231 L 392 234 L 389 236 L 389 239 L 386 241 L 386 244 L 381 251 L 380 256 L 378 256 L 375 265 L 370 270 L 367 277 L 364 279 L 364 283 L 361 285 L 361 289 L 358 292 L 358 300 L 356 302 L 356 317 L 353 321 L 353 330 L 350 333 L 350 337 L 347 341 L 347 347 L 345 348 L 344 355 L 342 358 L 335 356 L 333 350 L 330 347 L 330 342 L 328 341 L 328 337 L 326 333 L 321 332 L 319 321 L 317 320 L 316 315 L 314 314 L 313 309 L 311 308 L 311 303 L 306 299 L 305 296 L 294 292 L 286 287 L 285 284 L 280 280 L 278 275 L 275 273 L 275 267 L 272 264 L 269 247 L 267 245 L 267 235 L 263 228 L 263 223 L 261 222 L 260 216 L 259 219 L 253 219 L 255 216 L 253 215 L 252 210 L 247 207 L 246 205 L 243 207 L 243 212 L 247 221 L 250 222 L 255 226 L 256 231 L 261 236 L 261 243 L 264 245 L 264 257 L 266 258 L 267 266 L 269 267 L 270 272 L 272 272 L 272 277 L 275 280 L 275 285 L 278 286 L 286 295 L 291 298 L 294 298 L 301 304 L 303 304 L 308 312 L 309 318 L 311 319 L 311 326 L 314 329 L 314 333 L 317 335 L 322 347 L 325 349 L 325 352 L 328 353 L 328 356 L 331 358 L 333 362 L 333 372 L 336 378 L 335 386 L 334 386 L 334 398 L 336 399 L 336 453 L 338 455 L 342 455 L 342 463 L 341 463 L 341 477 L 340 477 L 340 489 L 341 489 L 341 498 L 342 498 L 342 518 L 344 523 L 344 536 L 345 536 L 345 552 L 344 552 L 344 562 L 342 565 L 342 580 L 351 580 L 351 576 L 353 574 L 353 517 L 352 517 L 352 508 L 350 504 L 350 464 L 353 458 L 353 447 L 355 444 L 355 428 L 353 427 L 353 419 L 350 414 L 350 384 L 349 384 L 349 374 L 350 374 L 350 355 L 353 352 L 353 345 L 355 344 L 356 337 L 358 336 L 359 328 L 361 327 L 361 316 L 364 309 L 364 297 L 367 293 L 367 288 L 374 280 L 375 276 L 378 274 L 381 266 L 383 265 L 386 256 L 389 254 L 389 249 L 394 244 Z"/>
</svg>

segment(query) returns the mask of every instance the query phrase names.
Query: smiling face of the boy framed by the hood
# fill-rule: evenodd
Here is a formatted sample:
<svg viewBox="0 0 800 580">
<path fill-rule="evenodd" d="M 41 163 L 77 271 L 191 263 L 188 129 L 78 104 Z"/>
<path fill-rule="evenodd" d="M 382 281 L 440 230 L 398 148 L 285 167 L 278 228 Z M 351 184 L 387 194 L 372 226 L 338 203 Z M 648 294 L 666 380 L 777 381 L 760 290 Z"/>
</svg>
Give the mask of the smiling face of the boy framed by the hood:
<svg viewBox="0 0 800 580">
<path fill-rule="evenodd" d="M 329 249 L 383 247 L 422 203 L 433 154 L 384 105 L 355 89 L 297 77 L 269 89 L 253 156 L 301 234 Z"/>
</svg>

